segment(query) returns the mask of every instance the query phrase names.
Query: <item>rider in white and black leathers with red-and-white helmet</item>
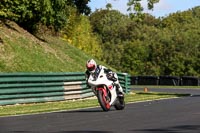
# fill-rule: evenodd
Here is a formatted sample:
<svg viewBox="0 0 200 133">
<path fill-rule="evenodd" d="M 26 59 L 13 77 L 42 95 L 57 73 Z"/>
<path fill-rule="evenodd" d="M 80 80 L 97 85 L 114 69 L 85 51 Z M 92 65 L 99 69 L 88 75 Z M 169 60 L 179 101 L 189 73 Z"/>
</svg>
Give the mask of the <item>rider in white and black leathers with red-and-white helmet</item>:
<svg viewBox="0 0 200 133">
<path fill-rule="evenodd" d="M 104 73 L 106 73 L 107 78 L 109 80 L 113 81 L 114 85 L 116 85 L 118 96 L 124 97 L 123 89 L 122 89 L 121 85 L 119 84 L 117 74 L 114 73 L 111 69 L 108 69 L 102 65 L 97 65 L 93 59 L 90 59 L 86 62 L 86 68 L 87 68 L 87 70 L 85 72 L 86 81 L 88 81 L 88 78 L 90 77 L 91 74 L 93 74 L 95 76 L 95 73 L 97 73 L 97 71 L 103 70 Z"/>
</svg>

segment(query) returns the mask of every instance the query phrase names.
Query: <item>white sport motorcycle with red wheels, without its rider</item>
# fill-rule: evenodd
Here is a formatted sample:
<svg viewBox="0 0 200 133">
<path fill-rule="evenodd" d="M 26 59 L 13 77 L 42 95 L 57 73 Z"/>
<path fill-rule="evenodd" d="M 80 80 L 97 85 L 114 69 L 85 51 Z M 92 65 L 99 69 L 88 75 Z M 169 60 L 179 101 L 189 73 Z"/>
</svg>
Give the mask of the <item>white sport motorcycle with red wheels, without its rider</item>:
<svg viewBox="0 0 200 133">
<path fill-rule="evenodd" d="M 103 71 L 99 71 L 95 76 L 91 74 L 88 84 L 97 96 L 103 111 L 109 111 L 112 105 L 116 110 L 125 108 L 124 98 L 117 96 L 116 85 L 113 84 L 113 81 L 108 80 Z"/>
</svg>

